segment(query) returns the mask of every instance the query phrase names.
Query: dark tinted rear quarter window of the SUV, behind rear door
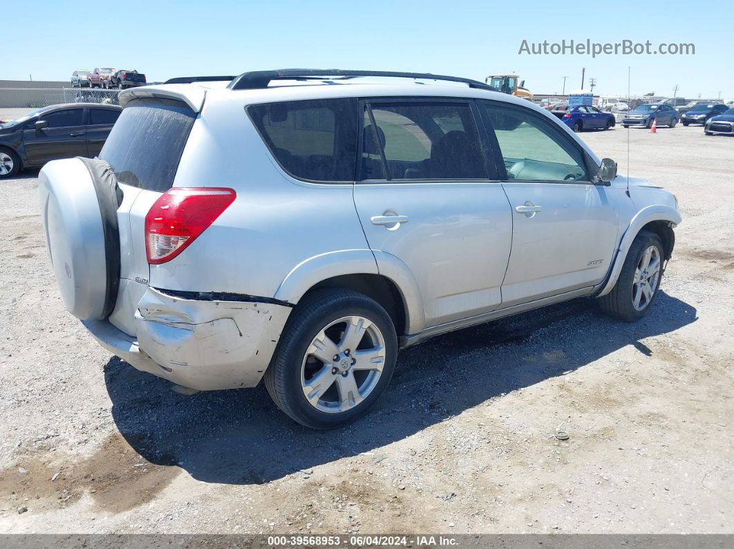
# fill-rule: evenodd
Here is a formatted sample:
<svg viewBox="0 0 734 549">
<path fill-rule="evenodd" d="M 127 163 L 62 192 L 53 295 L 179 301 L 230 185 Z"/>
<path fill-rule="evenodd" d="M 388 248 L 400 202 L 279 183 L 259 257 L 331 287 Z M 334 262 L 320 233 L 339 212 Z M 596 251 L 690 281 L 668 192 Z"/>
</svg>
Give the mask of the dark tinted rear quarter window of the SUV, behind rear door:
<svg viewBox="0 0 734 549">
<path fill-rule="evenodd" d="M 251 105 L 247 114 L 280 166 L 299 179 L 351 182 L 357 158 L 357 99 Z"/>
</svg>

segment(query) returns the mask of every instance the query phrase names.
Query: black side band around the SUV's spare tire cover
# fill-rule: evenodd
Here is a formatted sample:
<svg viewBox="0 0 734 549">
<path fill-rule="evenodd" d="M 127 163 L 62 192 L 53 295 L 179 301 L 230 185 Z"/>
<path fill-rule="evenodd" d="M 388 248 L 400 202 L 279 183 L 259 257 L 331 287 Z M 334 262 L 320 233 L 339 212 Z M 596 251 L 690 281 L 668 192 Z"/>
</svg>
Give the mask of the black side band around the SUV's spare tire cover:
<svg viewBox="0 0 734 549">
<path fill-rule="evenodd" d="M 97 202 L 102 215 L 104 232 L 104 254 L 106 261 L 106 295 L 102 312 L 103 320 L 112 314 L 117 302 L 117 291 L 120 288 L 120 232 L 117 228 L 117 208 L 123 202 L 123 191 L 117 185 L 117 177 L 112 167 L 99 158 L 82 158 L 92 176 Z"/>
</svg>

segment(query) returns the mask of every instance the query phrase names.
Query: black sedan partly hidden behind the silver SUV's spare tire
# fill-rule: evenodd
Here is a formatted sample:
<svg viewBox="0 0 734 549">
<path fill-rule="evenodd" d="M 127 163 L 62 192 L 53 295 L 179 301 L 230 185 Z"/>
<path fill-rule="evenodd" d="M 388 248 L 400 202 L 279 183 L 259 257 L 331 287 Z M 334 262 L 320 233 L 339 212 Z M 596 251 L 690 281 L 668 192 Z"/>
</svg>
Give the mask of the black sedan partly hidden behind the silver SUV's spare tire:
<svg viewBox="0 0 734 549">
<path fill-rule="evenodd" d="M 0 123 L 0 178 L 57 158 L 94 158 L 123 109 L 98 103 L 40 108 Z"/>
</svg>

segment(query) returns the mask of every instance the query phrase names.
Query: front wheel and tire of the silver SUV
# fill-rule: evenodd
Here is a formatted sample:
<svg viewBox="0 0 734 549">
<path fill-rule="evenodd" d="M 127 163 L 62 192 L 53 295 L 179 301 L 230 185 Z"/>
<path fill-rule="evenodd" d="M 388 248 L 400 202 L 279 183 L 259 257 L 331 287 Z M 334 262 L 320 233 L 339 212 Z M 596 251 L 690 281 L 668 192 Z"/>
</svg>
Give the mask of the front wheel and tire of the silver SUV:
<svg viewBox="0 0 734 549">
<path fill-rule="evenodd" d="M 634 322 L 650 310 L 663 278 L 663 243 L 654 232 L 643 231 L 628 251 L 617 284 L 599 298 L 603 312 L 617 320 Z"/>
</svg>

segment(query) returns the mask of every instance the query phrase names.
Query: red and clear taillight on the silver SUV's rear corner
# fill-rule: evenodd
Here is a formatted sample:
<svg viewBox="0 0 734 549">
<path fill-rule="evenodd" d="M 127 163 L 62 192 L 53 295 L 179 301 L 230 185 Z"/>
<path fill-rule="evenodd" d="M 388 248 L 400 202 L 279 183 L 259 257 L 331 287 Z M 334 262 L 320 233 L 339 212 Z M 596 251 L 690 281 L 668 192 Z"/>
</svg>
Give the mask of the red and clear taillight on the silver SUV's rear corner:
<svg viewBox="0 0 734 549">
<path fill-rule="evenodd" d="M 170 261 L 234 202 L 230 188 L 175 187 L 145 215 L 145 252 L 153 265 Z"/>
</svg>

